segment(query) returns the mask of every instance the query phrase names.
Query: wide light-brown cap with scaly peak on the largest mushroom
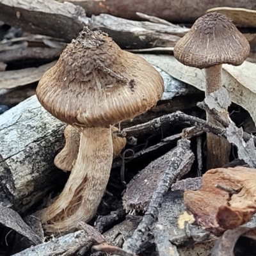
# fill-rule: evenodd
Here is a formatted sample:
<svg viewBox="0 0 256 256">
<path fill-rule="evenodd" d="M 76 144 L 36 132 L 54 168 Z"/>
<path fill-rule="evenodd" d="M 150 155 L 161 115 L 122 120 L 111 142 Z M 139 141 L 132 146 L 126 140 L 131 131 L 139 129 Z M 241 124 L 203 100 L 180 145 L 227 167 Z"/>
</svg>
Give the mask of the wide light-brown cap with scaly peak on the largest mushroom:
<svg viewBox="0 0 256 256">
<path fill-rule="evenodd" d="M 84 28 L 45 72 L 36 95 L 61 121 L 99 127 L 145 113 L 163 91 L 163 78 L 146 60 L 120 49 L 106 33 Z"/>
</svg>

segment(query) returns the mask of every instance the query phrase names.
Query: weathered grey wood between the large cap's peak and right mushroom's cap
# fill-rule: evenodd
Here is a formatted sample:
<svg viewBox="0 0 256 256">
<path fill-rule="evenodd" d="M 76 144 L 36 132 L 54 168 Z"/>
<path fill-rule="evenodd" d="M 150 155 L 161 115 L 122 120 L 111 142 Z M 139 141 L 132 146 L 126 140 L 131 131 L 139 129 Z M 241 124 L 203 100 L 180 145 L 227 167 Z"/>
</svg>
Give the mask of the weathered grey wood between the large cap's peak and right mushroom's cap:
<svg viewBox="0 0 256 256">
<path fill-rule="evenodd" d="M 93 16 L 89 28 L 108 33 L 116 44 L 128 49 L 174 47 L 180 37 L 189 31 L 179 26 L 121 19 L 108 14 Z"/>
</svg>

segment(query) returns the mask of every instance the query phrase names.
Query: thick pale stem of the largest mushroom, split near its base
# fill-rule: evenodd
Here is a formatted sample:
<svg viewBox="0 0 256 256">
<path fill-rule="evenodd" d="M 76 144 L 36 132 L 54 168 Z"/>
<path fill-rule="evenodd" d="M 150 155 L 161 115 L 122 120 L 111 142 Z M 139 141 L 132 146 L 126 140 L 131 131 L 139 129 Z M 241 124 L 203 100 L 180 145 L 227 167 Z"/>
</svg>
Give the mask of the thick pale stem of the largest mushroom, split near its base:
<svg viewBox="0 0 256 256">
<path fill-rule="evenodd" d="M 79 153 L 59 198 L 42 216 L 46 232 L 74 230 L 79 221 L 95 215 L 108 184 L 113 161 L 110 128 L 84 128 Z"/>
</svg>

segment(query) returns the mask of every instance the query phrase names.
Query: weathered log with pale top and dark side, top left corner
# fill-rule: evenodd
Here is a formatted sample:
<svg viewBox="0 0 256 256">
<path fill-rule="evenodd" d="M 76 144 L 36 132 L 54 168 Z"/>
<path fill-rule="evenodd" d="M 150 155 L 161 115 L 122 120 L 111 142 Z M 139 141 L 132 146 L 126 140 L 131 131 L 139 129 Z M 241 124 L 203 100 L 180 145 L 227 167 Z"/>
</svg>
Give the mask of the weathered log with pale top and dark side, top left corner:
<svg viewBox="0 0 256 256">
<path fill-rule="evenodd" d="M 80 6 L 54 0 L 0 0 L 0 17 L 24 31 L 67 41 L 76 38 L 88 21 Z"/>
</svg>

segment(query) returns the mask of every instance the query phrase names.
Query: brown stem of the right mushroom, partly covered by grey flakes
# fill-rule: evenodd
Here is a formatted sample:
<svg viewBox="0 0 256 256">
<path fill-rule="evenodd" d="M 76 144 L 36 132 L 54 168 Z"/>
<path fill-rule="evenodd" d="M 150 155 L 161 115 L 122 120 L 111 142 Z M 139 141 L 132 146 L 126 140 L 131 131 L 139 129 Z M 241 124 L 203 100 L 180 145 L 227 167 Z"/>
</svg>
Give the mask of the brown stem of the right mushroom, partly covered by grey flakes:
<svg viewBox="0 0 256 256">
<path fill-rule="evenodd" d="M 222 65 L 205 68 L 206 88 L 205 95 L 219 90 L 222 86 Z M 228 121 L 228 112 L 220 113 Z M 207 121 L 220 125 L 211 115 L 207 114 Z M 207 170 L 218 168 L 229 162 L 231 145 L 224 138 L 207 132 Z"/>
</svg>

